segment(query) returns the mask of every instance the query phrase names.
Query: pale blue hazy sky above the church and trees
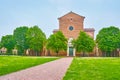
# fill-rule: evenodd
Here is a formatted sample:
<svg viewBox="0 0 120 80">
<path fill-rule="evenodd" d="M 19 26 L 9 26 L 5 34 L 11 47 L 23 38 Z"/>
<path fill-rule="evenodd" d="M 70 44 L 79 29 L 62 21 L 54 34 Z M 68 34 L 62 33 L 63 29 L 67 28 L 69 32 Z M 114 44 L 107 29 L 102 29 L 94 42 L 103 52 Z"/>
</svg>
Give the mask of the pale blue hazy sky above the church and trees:
<svg viewBox="0 0 120 80">
<path fill-rule="evenodd" d="M 104 27 L 120 28 L 120 0 L 0 0 L 0 38 L 34 25 L 49 37 L 70 11 L 85 16 L 84 28 L 94 28 L 95 36 Z"/>
</svg>

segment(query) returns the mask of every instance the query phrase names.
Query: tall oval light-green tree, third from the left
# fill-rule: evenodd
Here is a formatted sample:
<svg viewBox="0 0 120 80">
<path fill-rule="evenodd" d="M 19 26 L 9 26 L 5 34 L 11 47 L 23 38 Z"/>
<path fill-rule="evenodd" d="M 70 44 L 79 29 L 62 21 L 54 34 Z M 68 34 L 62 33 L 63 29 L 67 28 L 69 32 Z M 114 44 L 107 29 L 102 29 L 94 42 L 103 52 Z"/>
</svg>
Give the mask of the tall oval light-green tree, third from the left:
<svg viewBox="0 0 120 80">
<path fill-rule="evenodd" d="M 42 51 L 44 42 L 46 41 L 45 34 L 38 26 L 33 26 L 28 30 L 26 38 L 30 49 L 34 50 L 36 55 L 38 55 L 38 51 Z"/>
</svg>

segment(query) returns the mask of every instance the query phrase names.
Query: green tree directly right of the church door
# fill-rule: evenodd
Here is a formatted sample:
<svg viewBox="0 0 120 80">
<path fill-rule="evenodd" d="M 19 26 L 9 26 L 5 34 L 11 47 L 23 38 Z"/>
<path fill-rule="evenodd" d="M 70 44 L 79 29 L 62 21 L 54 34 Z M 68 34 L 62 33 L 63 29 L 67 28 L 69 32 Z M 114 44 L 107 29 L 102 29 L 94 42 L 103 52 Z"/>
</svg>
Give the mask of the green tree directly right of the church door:
<svg viewBox="0 0 120 80">
<path fill-rule="evenodd" d="M 73 41 L 73 45 L 77 52 L 92 52 L 95 46 L 94 40 L 85 32 L 80 31 L 80 34 L 76 40 Z"/>
</svg>

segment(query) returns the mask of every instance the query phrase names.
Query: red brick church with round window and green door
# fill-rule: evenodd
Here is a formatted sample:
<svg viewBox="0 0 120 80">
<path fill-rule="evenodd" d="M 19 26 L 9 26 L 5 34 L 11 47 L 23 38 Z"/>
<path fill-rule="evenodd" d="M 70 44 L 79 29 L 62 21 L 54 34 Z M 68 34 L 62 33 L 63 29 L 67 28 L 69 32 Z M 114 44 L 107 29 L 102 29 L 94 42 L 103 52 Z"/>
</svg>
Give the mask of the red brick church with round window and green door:
<svg viewBox="0 0 120 80">
<path fill-rule="evenodd" d="M 61 52 L 60 55 L 76 56 L 76 51 L 71 44 L 73 39 L 76 39 L 80 31 L 86 32 L 94 39 L 94 28 L 84 28 L 84 16 L 69 12 L 62 17 L 59 17 L 59 29 L 54 29 L 53 33 L 61 31 L 68 40 L 68 47 L 66 52 Z"/>
</svg>

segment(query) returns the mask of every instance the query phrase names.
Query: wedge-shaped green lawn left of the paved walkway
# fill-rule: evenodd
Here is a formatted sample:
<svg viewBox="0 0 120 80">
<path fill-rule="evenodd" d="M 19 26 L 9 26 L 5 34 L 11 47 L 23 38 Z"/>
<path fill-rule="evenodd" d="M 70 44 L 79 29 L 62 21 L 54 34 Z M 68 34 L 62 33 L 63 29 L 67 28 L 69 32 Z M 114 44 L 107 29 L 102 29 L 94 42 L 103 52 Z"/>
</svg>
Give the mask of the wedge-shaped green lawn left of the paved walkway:
<svg viewBox="0 0 120 80">
<path fill-rule="evenodd" d="M 43 64 L 58 58 L 0 56 L 0 75 Z"/>
</svg>

